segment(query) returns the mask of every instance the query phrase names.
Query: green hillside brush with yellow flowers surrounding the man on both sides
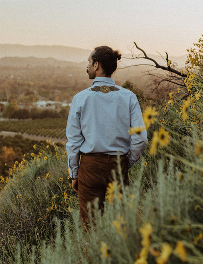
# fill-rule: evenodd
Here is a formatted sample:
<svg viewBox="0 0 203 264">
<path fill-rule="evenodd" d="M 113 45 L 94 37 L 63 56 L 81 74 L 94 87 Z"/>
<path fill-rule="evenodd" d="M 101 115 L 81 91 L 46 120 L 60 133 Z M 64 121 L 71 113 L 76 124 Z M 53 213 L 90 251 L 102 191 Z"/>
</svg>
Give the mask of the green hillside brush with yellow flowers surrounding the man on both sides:
<svg viewBox="0 0 203 264">
<path fill-rule="evenodd" d="M 149 143 L 129 170 L 130 185 L 109 184 L 89 233 L 80 225 L 64 146 L 34 144 L 36 153 L 1 177 L 3 263 L 203 263 L 203 77 L 186 70 L 185 87 L 143 107 Z"/>
</svg>

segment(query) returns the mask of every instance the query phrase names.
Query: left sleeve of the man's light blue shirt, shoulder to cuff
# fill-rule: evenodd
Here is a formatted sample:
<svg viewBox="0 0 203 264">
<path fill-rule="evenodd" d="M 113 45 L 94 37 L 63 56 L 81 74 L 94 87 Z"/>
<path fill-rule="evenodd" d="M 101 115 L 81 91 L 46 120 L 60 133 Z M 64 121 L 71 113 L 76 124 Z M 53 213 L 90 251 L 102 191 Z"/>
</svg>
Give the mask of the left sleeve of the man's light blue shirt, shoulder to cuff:
<svg viewBox="0 0 203 264">
<path fill-rule="evenodd" d="M 66 143 L 66 151 L 68 155 L 68 167 L 71 178 L 77 178 L 80 158 L 80 146 L 84 141 L 80 126 L 80 107 L 74 97 L 69 111 L 66 136 L 68 142 Z"/>
</svg>

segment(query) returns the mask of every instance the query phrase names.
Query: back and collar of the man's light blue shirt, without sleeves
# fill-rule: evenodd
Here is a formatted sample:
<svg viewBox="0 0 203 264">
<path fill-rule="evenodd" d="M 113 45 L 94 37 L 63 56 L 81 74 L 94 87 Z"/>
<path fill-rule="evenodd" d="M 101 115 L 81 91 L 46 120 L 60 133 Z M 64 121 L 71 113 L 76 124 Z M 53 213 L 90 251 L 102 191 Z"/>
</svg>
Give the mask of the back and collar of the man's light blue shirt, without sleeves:
<svg viewBox="0 0 203 264">
<path fill-rule="evenodd" d="M 108 85 L 115 91 L 102 93 L 92 87 Z M 107 153 L 116 155 L 128 152 L 130 147 L 130 104 L 136 104 L 136 96 L 123 87 L 116 86 L 113 79 L 99 77 L 93 86 L 78 93 L 74 100 L 74 111 L 80 116 L 84 142 L 83 153 Z M 139 115 L 139 113 L 138 113 Z"/>
</svg>

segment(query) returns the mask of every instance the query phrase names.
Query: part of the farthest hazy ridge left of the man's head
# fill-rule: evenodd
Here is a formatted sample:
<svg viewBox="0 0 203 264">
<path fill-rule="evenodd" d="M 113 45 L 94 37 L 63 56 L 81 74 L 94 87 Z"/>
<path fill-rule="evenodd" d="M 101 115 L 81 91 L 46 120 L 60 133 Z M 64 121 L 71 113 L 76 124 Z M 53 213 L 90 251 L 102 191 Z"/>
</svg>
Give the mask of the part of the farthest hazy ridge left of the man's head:
<svg viewBox="0 0 203 264">
<path fill-rule="evenodd" d="M 90 50 L 66 47 L 36 45 L 25 46 L 21 44 L 0 44 L 0 57 L 53 57 L 59 60 L 82 62 L 87 61 Z"/>
</svg>

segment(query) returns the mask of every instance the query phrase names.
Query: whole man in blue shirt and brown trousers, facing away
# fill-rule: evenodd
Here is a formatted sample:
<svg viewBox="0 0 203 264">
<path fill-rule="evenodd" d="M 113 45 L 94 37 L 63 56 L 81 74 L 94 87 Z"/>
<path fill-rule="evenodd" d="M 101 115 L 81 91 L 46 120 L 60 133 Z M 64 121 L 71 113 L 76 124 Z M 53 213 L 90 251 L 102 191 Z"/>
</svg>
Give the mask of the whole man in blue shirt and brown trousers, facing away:
<svg viewBox="0 0 203 264">
<path fill-rule="evenodd" d="M 146 130 L 131 136 L 128 133 L 130 127 L 143 127 L 144 123 L 136 95 L 111 79 L 120 59 L 121 54 L 107 46 L 95 48 L 87 66 L 89 79 L 94 79 L 92 86 L 76 94 L 69 111 L 68 166 L 72 187 L 78 191 L 83 224 L 88 223 L 88 202 L 99 197 L 99 208 L 103 209 L 106 187 L 113 181 L 112 170 L 118 174 L 118 152 L 127 185 L 127 170 L 147 144 Z"/>
</svg>

